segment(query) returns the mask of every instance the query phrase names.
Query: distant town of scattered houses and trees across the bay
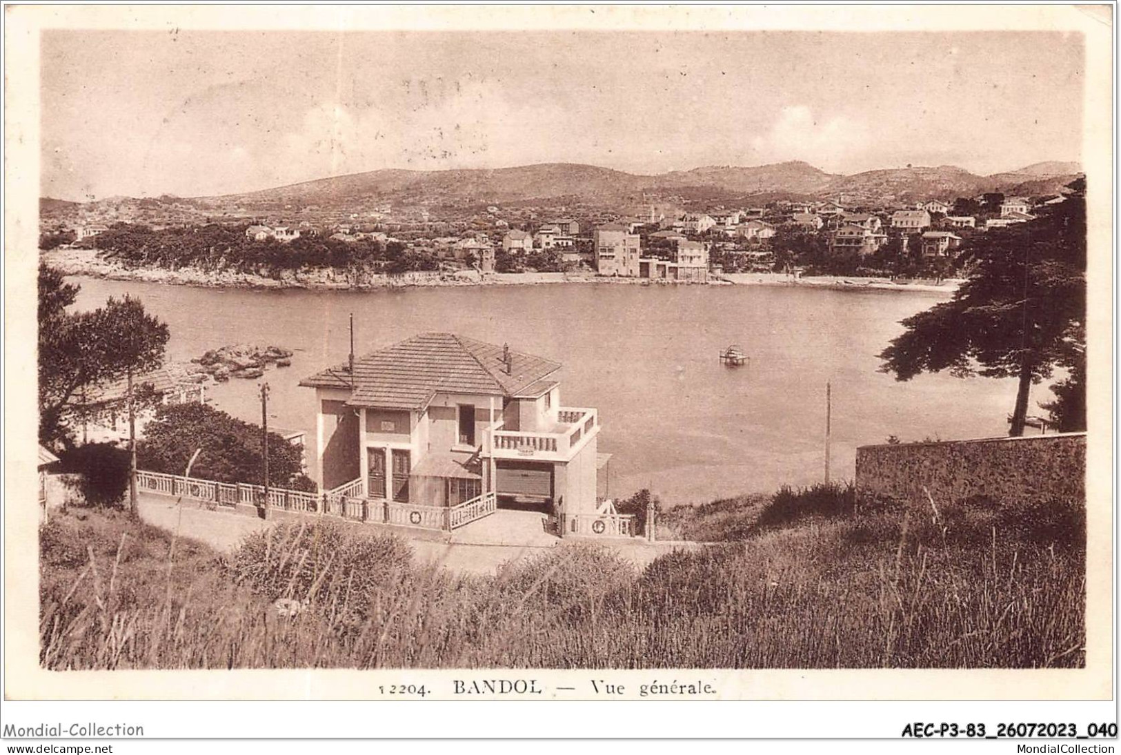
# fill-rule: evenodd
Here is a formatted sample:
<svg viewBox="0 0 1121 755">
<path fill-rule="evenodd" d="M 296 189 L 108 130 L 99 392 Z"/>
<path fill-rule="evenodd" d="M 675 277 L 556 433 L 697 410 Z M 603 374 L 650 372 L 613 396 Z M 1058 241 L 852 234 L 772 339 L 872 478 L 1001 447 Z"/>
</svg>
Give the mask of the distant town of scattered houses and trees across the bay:
<svg viewBox="0 0 1121 755">
<path fill-rule="evenodd" d="M 1034 181 L 1016 186 L 1037 193 L 946 191 L 910 201 L 906 191 L 879 199 L 867 193 L 791 199 L 777 192 L 734 197 L 678 190 L 614 200 L 568 195 L 480 203 L 402 191 L 400 201 L 334 196 L 315 204 L 306 201 L 315 194 L 302 201 L 275 190 L 276 195 L 210 199 L 45 199 L 39 246 L 96 249 L 126 267 L 274 277 L 361 268 L 386 275 L 585 273 L 683 283 L 736 273 L 943 279 L 963 273 L 956 252 L 971 236 L 1027 222 L 1040 208 L 1064 201 L 1065 182 L 1074 175 L 1020 177 Z"/>
</svg>

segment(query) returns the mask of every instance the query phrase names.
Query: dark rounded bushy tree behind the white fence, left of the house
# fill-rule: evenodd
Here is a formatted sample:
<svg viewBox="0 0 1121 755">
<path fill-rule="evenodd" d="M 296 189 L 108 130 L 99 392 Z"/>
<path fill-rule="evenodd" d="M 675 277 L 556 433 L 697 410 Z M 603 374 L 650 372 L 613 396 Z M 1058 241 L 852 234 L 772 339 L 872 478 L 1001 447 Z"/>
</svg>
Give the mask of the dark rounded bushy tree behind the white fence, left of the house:
<svg viewBox="0 0 1121 755">
<path fill-rule="evenodd" d="M 154 472 L 182 475 L 196 449 L 202 449 L 192 475 L 220 482 L 265 481 L 261 427 L 242 422 L 206 404 L 160 406 L 138 444 L 140 464 Z M 315 490 L 303 473 L 299 449 L 269 433 L 269 478 L 282 487 Z"/>
</svg>

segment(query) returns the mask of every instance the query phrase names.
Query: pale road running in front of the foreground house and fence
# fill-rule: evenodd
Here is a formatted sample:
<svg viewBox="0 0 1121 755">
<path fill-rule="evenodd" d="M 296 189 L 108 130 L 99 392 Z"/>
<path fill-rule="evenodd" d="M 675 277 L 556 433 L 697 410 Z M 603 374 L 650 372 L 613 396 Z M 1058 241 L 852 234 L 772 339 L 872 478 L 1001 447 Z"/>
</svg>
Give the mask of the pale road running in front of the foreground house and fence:
<svg viewBox="0 0 1121 755">
<path fill-rule="evenodd" d="M 272 523 L 243 514 L 209 510 L 193 505 L 177 507 L 167 496 L 141 494 L 140 518 L 149 524 L 178 532 L 180 537 L 202 541 L 229 553 L 253 532 Z M 562 541 L 544 531 L 540 514 L 499 510 L 455 531 L 451 543 L 414 540 L 405 536 L 420 562 L 436 562 L 457 572 L 493 574 L 507 561 L 544 553 Z M 354 524 L 355 527 L 367 525 Z M 404 536 L 404 535 L 402 535 Z M 680 547 L 668 543 L 650 544 L 641 540 L 595 541 L 615 549 L 620 555 L 638 567 L 645 567 L 658 555 Z"/>
</svg>

